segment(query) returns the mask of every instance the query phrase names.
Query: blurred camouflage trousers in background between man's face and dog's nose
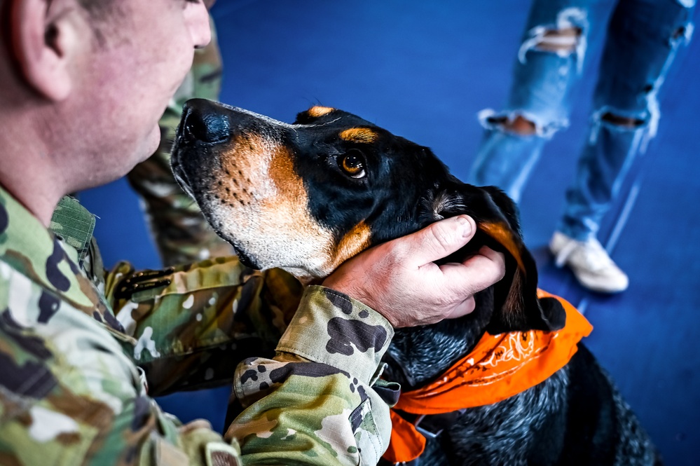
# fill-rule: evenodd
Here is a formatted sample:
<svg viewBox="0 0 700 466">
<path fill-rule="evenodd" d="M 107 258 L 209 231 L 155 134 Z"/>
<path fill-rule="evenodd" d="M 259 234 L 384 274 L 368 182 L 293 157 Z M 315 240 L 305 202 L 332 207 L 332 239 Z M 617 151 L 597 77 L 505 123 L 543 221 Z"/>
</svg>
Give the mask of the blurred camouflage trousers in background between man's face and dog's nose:
<svg viewBox="0 0 700 466">
<path fill-rule="evenodd" d="M 170 148 L 182 105 L 193 97 L 218 100 L 222 64 L 214 22 L 212 41 L 195 50 L 192 68 L 160 118 L 160 146 L 156 153 L 127 175 L 140 198 L 151 234 L 165 266 L 233 254 L 184 193 L 170 170 Z"/>
</svg>

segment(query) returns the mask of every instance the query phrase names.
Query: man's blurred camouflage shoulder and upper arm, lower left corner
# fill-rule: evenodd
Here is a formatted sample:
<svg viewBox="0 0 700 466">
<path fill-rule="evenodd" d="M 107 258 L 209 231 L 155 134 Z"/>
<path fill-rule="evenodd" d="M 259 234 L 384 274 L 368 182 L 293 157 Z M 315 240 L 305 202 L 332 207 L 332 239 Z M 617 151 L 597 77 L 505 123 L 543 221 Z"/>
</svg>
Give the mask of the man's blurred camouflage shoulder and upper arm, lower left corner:
<svg viewBox="0 0 700 466">
<path fill-rule="evenodd" d="M 0 261 L 0 465 L 242 464 L 235 440 L 160 410 L 116 335 Z"/>
</svg>

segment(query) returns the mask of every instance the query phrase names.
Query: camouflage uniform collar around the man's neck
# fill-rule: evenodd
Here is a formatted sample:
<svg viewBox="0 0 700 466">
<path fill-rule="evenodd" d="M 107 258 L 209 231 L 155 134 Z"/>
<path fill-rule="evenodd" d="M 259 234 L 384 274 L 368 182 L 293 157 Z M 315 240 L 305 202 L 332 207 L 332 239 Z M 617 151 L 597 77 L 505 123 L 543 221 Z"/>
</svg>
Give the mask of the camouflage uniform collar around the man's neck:
<svg viewBox="0 0 700 466">
<path fill-rule="evenodd" d="M 100 322 L 107 315 L 114 319 L 92 282 L 81 273 L 79 260 L 76 249 L 65 245 L 0 186 L 0 278 L 13 271 L 20 273 Z"/>
</svg>

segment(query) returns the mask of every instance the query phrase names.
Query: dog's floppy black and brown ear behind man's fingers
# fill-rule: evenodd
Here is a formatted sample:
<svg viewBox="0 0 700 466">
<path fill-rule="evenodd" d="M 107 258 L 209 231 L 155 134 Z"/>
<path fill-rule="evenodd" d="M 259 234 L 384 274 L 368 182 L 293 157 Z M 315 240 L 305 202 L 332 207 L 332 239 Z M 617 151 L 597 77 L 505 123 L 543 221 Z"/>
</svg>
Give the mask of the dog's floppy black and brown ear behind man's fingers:
<svg viewBox="0 0 700 466">
<path fill-rule="evenodd" d="M 429 198 L 430 199 L 430 198 Z M 432 204 L 432 205 L 430 205 Z M 434 219 L 467 214 L 476 221 L 477 233 L 458 254 L 464 259 L 486 245 L 506 256 L 505 277 L 494 285 L 494 310 L 486 331 L 558 330 L 564 326 L 565 311 L 537 299 L 535 259 L 523 243 L 515 203 L 495 186 L 457 184 L 432 196 L 429 203 Z M 426 206 L 427 207 L 427 206 Z"/>
</svg>

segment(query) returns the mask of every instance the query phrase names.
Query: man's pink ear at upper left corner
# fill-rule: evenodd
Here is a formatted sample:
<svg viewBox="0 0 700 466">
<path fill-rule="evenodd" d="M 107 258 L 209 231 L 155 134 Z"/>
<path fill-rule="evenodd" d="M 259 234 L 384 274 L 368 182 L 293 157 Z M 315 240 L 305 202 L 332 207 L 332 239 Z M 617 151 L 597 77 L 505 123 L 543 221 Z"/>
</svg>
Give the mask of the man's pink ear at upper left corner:
<svg viewBox="0 0 700 466">
<path fill-rule="evenodd" d="M 25 83 L 48 100 L 61 101 L 70 93 L 71 60 L 79 48 L 80 11 L 63 1 L 10 2 L 11 52 Z"/>
</svg>

